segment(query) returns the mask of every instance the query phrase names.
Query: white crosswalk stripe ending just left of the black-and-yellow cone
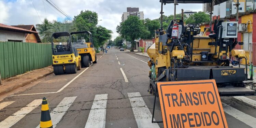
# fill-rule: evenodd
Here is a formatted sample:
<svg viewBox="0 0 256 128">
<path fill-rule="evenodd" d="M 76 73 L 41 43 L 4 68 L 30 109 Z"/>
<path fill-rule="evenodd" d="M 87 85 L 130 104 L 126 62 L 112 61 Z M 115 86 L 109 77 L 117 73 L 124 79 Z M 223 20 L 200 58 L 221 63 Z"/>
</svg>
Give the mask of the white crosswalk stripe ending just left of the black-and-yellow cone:
<svg viewBox="0 0 256 128">
<path fill-rule="evenodd" d="M 11 116 L 7 117 L 0 123 L 0 128 L 10 128 L 14 124 L 16 124 L 20 119 L 30 113 L 32 110 L 37 108 L 42 103 L 42 99 L 34 100 L 29 103 L 24 108 L 20 109 L 16 113 L 12 114 Z"/>
</svg>

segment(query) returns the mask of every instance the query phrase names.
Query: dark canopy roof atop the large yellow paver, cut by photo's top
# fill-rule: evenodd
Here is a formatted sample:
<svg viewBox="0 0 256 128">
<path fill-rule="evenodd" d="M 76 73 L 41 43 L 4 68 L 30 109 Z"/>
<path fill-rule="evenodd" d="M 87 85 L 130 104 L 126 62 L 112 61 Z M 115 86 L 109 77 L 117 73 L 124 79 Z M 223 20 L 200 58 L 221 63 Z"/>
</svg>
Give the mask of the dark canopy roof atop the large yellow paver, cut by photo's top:
<svg viewBox="0 0 256 128">
<path fill-rule="evenodd" d="M 163 3 L 174 3 L 174 0 L 162 0 Z M 211 3 L 213 0 L 177 0 L 177 3 Z M 220 4 L 228 0 L 215 0 L 215 4 Z M 160 0 L 161 2 L 161 0 Z"/>
</svg>

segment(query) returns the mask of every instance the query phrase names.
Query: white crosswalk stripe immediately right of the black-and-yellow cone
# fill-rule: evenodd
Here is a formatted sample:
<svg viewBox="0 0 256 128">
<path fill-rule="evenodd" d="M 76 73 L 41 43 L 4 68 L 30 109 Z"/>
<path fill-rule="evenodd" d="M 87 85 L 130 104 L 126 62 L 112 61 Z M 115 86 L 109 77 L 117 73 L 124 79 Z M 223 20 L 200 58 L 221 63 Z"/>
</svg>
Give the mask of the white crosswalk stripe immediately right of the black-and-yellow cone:
<svg viewBox="0 0 256 128">
<path fill-rule="evenodd" d="M 56 127 L 56 125 L 59 123 L 63 115 L 68 111 L 71 104 L 74 102 L 76 97 L 65 97 L 63 100 L 60 101 L 60 103 L 56 106 L 56 108 L 50 113 L 53 128 Z M 40 128 L 40 124 L 36 127 Z"/>
</svg>

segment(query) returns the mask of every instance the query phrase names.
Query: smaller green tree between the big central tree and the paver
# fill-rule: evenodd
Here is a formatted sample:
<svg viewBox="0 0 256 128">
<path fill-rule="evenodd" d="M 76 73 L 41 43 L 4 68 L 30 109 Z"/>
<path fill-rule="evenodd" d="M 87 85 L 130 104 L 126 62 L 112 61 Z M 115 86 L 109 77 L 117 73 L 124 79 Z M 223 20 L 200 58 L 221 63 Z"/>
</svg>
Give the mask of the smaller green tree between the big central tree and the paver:
<svg viewBox="0 0 256 128">
<path fill-rule="evenodd" d="M 152 39 L 155 37 L 155 30 L 159 29 L 161 27 L 160 22 L 156 19 L 151 20 L 149 18 L 146 18 L 144 20 L 144 25 L 149 31 L 149 34 L 146 35 L 146 38 L 144 39 Z"/>
</svg>

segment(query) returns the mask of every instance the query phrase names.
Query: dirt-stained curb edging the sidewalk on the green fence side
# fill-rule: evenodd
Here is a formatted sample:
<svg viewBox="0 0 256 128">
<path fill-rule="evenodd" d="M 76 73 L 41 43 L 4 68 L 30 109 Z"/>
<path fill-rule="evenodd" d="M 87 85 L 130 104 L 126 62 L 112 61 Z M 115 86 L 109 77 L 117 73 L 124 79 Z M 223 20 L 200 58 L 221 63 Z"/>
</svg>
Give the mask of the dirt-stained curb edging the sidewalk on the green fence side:
<svg viewBox="0 0 256 128">
<path fill-rule="evenodd" d="M 16 89 L 16 88 L 23 87 L 23 86 L 25 86 L 25 85 L 27 85 L 27 84 L 29 84 L 29 83 L 31 83 L 31 82 L 37 81 L 37 80 L 39 80 L 39 79 L 41 79 L 41 78 L 43 78 L 43 77 L 45 77 L 45 76 L 47 76 L 47 75 L 50 75 L 50 74 L 52 74 L 52 73 L 53 73 L 53 71 L 51 71 L 51 72 L 49 72 L 49 73 L 46 73 L 46 74 L 44 74 L 44 75 L 38 76 L 37 78 L 32 79 L 32 80 L 30 80 L 30 81 L 27 81 L 27 82 L 24 82 L 24 83 L 17 84 L 17 85 L 15 85 L 15 86 L 6 88 L 4 91 L 0 92 L 0 95 L 3 95 L 3 94 L 5 94 L 5 93 L 8 93 L 8 92 L 10 92 L 10 91 L 12 91 L 12 90 L 14 90 L 14 89 Z"/>
</svg>

